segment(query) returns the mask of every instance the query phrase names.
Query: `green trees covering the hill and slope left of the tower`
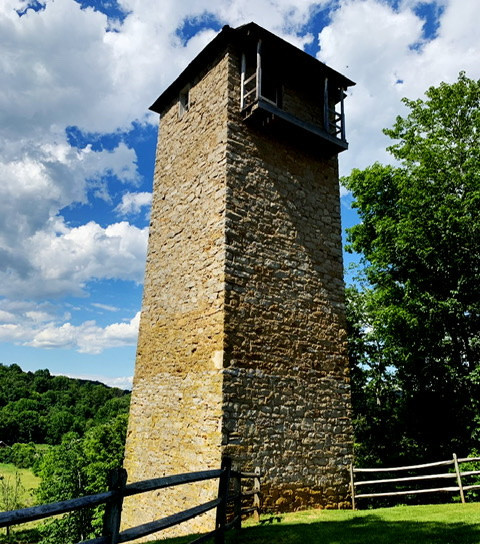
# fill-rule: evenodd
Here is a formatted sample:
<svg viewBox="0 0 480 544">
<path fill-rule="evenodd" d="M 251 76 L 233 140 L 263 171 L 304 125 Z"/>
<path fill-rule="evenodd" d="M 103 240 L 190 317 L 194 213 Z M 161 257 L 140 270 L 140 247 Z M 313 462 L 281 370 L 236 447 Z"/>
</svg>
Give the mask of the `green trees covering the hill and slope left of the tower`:
<svg viewBox="0 0 480 544">
<path fill-rule="evenodd" d="M 9 443 L 0 449 L 0 461 L 33 468 L 41 477 L 38 503 L 105 491 L 109 471 L 122 466 L 129 401 L 127 391 L 98 382 L 0 365 L 0 439 Z M 15 489 L 0 481 L 0 507 L 6 504 L 2 497 L 12 508 L 19 506 L 11 502 L 18 496 Z M 103 510 L 47 521 L 40 528 L 42 543 L 98 536 Z"/>
</svg>

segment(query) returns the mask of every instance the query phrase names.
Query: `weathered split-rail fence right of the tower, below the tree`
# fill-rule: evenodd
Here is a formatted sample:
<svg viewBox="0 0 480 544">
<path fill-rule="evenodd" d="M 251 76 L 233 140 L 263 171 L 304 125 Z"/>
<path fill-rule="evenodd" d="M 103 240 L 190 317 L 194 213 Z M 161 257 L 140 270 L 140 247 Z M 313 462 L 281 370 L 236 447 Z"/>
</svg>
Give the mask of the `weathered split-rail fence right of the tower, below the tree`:
<svg viewBox="0 0 480 544">
<path fill-rule="evenodd" d="M 350 491 L 352 494 L 352 508 L 355 510 L 356 508 L 356 501 L 358 499 L 365 499 L 365 498 L 373 498 L 373 497 L 394 497 L 394 496 L 400 496 L 400 495 L 416 495 L 416 494 L 422 494 L 422 493 L 440 493 L 440 492 L 453 492 L 453 493 L 459 493 L 460 499 L 462 503 L 465 502 L 465 494 L 464 491 L 471 490 L 471 489 L 480 489 L 480 485 L 464 485 L 462 478 L 465 478 L 466 476 L 474 476 L 479 475 L 480 470 L 471 470 L 471 471 L 460 471 L 460 464 L 462 463 L 472 463 L 472 462 L 478 462 L 480 461 L 480 457 L 468 457 L 459 459 L 457 458 L 456 454 L 453 454 L 453 458 L 448 461 L 437 461 L 435 463 L 425 463 L 423 465 L 410 465 L 410 466 L 402 466 L 402 467 L 391 467 L 391 468 L 356 468 L 353 465 L 350 467 Z M 392 473 L 392 472 L 407 472 L 407 471 L 420 471 L 425 469 L 431 469 L 435 467 L 440 466 L 453 466 L 455 471 L 454 472 L 443 472 L 443 473 L 428 473 L 428 474 L 421 474 L 418 476 L 404 476 L 399 478 L 382 478 L 382 475 L 385 473 Z M 356 475 L 358 474 L 375 474 L 380 475 L 379 478 L 374 479 L 367 479 L 367 480 L 357 480 Z M 451 486 L 442 486 L 439 487 L 438 485 L 435 487 L 428 487 L 424 489 L 402 489 L 398 490 L 397 485 L 406 485 L 407 483 L 412 482 L 425 482 L 425 481 L 432 481 L 432 480 L 455 480 L 456 485 Z M 364 493 L 357 493 L 357 489 L 359 487 L 375 487 L 378 485 L 382 486 L 390 486 L 392 484 L 393 491 L 382 491 L 382 492 L 364 492 Z"/>
</svg>

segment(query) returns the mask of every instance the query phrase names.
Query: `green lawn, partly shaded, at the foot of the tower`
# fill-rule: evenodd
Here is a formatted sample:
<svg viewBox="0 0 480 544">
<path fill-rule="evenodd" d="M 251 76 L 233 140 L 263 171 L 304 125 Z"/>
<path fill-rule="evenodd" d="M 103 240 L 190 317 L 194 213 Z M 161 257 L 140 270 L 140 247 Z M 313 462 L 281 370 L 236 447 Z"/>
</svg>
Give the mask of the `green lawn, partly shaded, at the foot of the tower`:
<svg viewBox="0 0 480 544">
<path fill-rule="evenodd" d="M 192 537 L 158 541 L 187 544 Z M 281 521 L 245 523 L 228 544 L 479 544 L 480 504 L 397 506 L 364 511 L 309 510 Z"/>
</svg>

